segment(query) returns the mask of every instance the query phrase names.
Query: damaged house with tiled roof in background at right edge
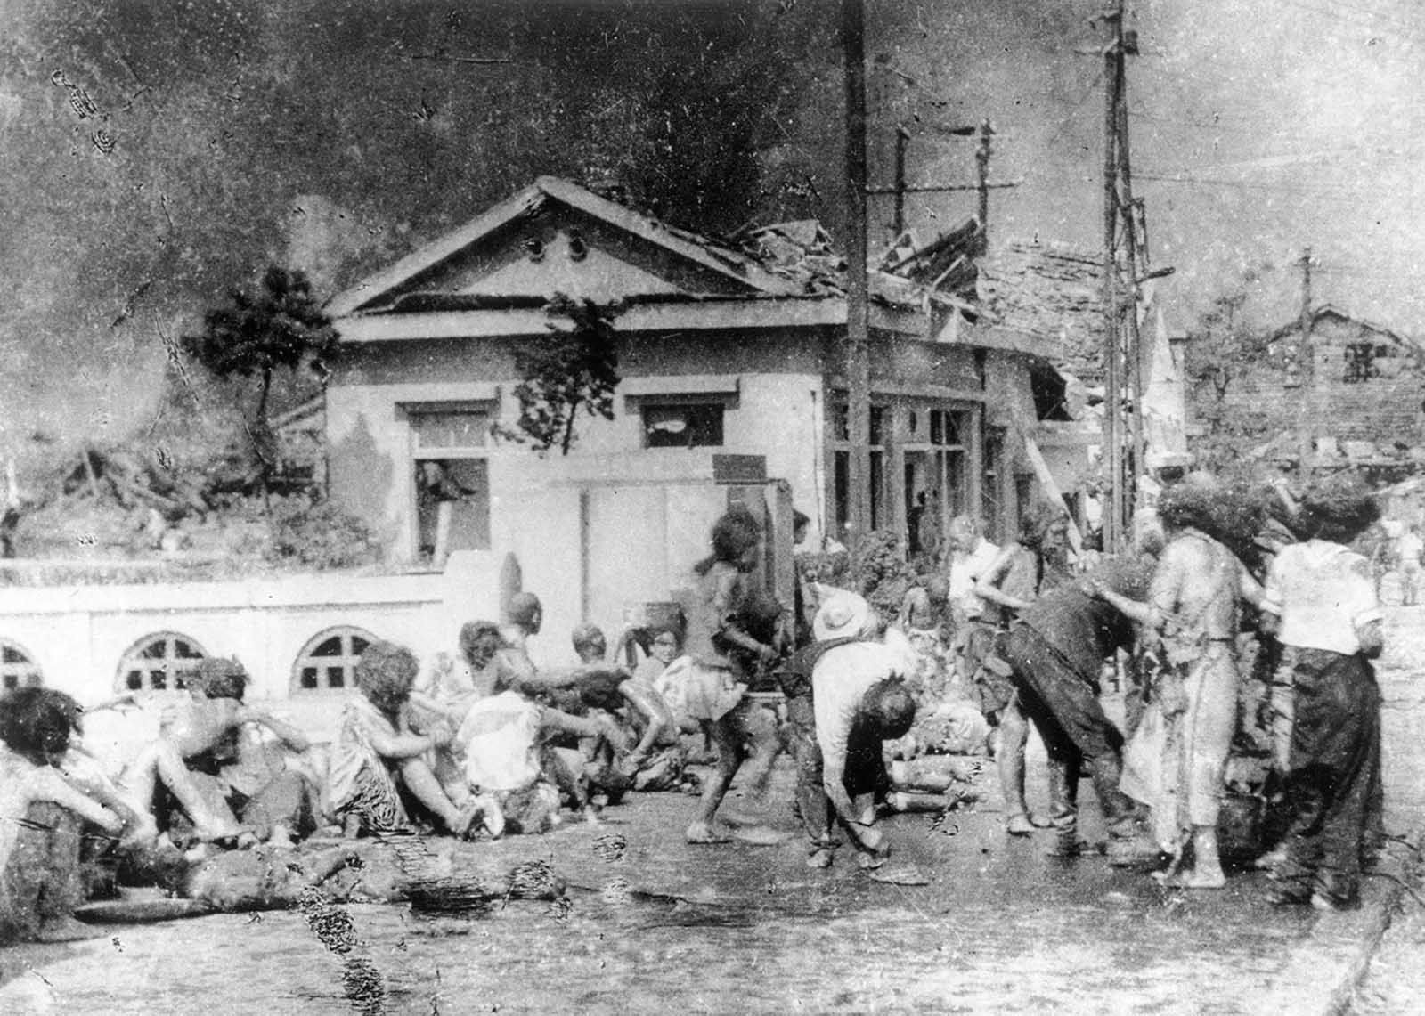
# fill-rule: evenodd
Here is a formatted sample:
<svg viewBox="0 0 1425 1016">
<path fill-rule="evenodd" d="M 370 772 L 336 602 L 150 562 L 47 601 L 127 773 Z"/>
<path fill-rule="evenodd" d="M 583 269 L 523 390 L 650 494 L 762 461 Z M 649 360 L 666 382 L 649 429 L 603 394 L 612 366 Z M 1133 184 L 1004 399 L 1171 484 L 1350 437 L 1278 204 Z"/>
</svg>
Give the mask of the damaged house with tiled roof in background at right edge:
<svg viewBox="0 0 1425 1016">
<path fill-rule="evenodd" d="M 1310 353 L 1310 359 L 1307 359 Z M 1267 338 L 1265 355 L 1226 392 L 1200 385 L 1193 412 L 1206 427 L 1230 426 L 1278 465 L 1311 449 L 1320 462 L 1404 466 L 1422 440 L 1425 349 L 1389 328 L 1331 305 Z M 1310 442 L 1310 443 L 1308 443 Z"/>
</svg>

